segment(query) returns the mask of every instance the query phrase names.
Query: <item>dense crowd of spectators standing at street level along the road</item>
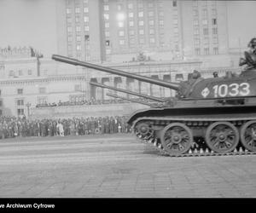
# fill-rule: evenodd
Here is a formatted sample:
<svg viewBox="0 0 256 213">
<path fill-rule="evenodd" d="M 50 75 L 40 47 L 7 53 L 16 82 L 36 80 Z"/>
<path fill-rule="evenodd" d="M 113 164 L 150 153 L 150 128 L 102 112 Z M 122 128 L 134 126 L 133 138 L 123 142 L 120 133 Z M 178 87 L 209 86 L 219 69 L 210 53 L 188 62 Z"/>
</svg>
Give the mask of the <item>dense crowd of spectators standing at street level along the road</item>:
<svg viewBox="0 0 256 213">
<path fill-rule="evenodd" d="M 36 119 L 0 117 L 0 139 L 26 136 L 65 136 L 129 133 L 127 118 L 61 118 Z"/>
</svg>

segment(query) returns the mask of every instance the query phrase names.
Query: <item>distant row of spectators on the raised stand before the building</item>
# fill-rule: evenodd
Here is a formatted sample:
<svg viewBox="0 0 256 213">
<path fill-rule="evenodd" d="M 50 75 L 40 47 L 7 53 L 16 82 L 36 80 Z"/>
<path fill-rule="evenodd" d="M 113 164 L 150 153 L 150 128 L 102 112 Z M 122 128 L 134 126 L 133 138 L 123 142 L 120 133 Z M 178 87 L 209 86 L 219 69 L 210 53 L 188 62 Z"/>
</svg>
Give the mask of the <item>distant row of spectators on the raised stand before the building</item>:
<svg viewBox="0 0 256 213">
<path fill-rule="evenodd" d="M 143 98 L 133 98 L 134 101 L 148 102 L 148 99 Z M 131 101 L 126 101 L 122 99 L 111 99 L 111 100 L 94 100 L 89 101 L 59 101 L 58 103 L 47 103 L 46 101 L 41 104 L 37 104 L 36 107 L 60 107 L 60 106 L 78 106 L 78 105 L 102 105 L 102 104 L 118 104 L 118 103 L 131 103 Z"/>
</svg>

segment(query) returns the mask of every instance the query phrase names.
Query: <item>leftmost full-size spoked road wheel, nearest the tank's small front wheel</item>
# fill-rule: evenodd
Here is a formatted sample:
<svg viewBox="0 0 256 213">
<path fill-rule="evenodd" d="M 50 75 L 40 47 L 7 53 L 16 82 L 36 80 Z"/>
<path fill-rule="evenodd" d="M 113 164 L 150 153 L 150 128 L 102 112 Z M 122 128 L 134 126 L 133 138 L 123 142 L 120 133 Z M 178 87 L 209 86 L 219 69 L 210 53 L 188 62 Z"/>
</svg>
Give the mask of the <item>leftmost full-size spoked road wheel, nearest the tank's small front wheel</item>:
<svg viewBox="0 0 256 213">
<path fill-rule="evenodd" d="M 186 125 L 172 123 L 161 131 L 160 141 L 166 152 L 179 155 L 188 152 L 193 142 L 193 135 Z"/>
</svg>

